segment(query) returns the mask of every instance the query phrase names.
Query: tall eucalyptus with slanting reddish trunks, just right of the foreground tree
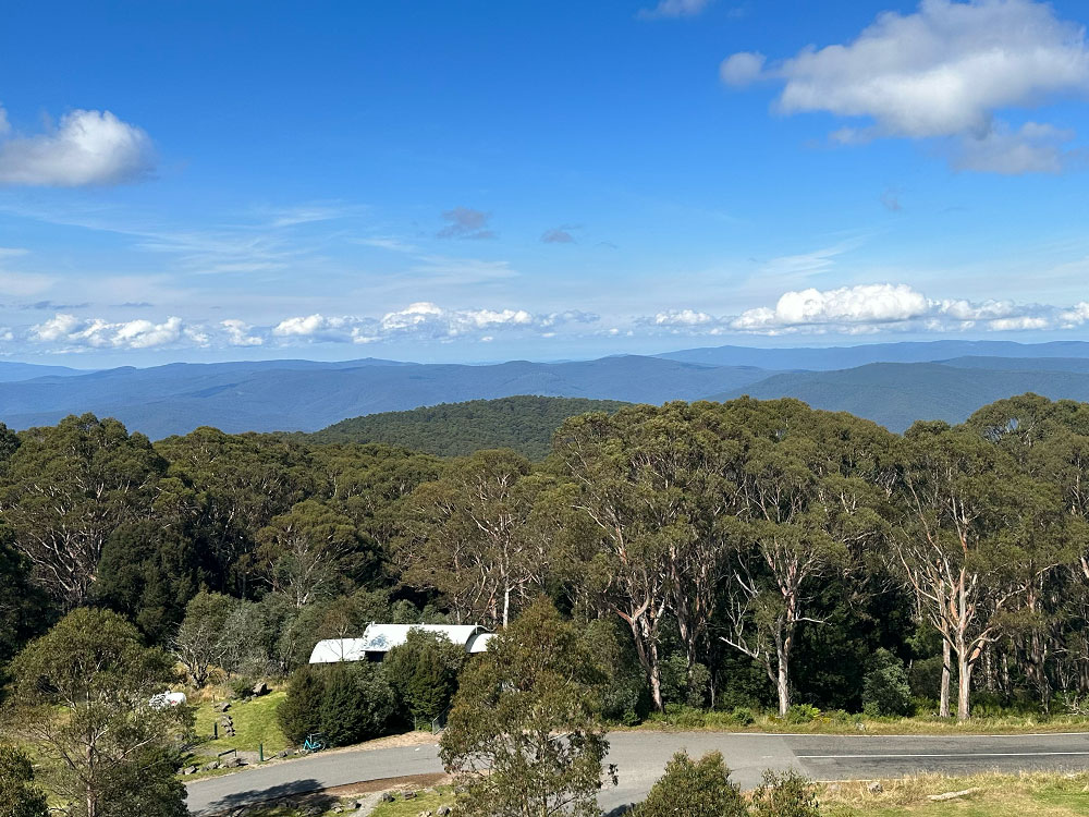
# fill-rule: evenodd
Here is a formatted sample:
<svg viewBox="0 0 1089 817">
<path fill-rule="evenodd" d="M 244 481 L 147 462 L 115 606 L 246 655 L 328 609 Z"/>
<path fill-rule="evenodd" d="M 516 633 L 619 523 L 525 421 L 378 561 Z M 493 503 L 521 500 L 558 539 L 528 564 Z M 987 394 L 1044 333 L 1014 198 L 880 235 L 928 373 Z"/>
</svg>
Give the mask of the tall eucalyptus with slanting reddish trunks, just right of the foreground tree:
<svg viewBox="0 0 1089 817">
<path fill-rule="evenodd" d="M 707 403 L 587 414 L 556 432 L 553 467 L 578 487 L 574 508 L 601 547 L 585 580 L 632 632 L 652 703 L 662 709 L 660 643 L 672 613 L 695 664 L 725 549 L 717 514 L 733 488 Z"/>
</svg>

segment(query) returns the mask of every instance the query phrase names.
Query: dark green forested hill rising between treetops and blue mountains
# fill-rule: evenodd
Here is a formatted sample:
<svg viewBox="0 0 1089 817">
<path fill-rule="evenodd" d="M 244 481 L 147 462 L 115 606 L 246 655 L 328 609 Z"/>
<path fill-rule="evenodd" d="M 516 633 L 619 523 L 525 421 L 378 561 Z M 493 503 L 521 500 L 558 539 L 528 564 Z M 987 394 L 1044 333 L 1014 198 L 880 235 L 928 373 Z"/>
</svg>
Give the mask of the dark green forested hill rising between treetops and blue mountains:
<svg viewBox="0 0 1089 817">
<path fill-rule="evenodd" d="M 306 435 L 309 442 L 384 442 L 439 456 L 465 456 L 490 448 L 509 448 L 530 460 L 549 451 L 552 435 L 567 417 L 614 412 L 614 400 L 518 395 L 499 400 L 442 403 L 409 412 L 353 417 Z"/>
</svg>

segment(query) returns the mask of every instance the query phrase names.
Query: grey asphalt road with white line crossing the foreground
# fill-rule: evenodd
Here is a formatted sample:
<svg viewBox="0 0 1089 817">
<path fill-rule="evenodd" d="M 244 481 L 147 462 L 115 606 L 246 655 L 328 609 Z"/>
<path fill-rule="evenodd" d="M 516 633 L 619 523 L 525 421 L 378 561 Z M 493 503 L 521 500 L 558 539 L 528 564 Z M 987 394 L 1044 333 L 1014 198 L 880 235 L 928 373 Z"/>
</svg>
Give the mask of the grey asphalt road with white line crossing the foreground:
<svg viewBox="0 0 1089 817">
<path fill-rule="evenodd" d="M 609 763 L 619 785 L 605 789 L 603 808 L 643 798 L 675 752 L 718 749 L 744 789 L 764 769 L 797 769 L 815 780 L 895 778 L 920 771 L 1089 770 L 1089 732 L 1035 735 L 781 735 L 731 732 L 614 732 Z M 247 803 L 368 780 L 442 771 L 433 745 L 313 755 L 188 785 L 197 815 Z"/>
</svg>

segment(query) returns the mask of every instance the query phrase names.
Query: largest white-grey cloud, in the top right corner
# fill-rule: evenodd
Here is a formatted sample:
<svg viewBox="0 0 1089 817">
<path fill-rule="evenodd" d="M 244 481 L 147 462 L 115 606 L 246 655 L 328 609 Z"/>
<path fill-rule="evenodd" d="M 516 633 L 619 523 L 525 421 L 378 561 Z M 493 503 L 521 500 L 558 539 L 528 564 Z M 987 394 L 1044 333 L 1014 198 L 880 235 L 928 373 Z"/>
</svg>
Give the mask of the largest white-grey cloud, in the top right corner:
<svg viewBox="0 0 1089 817">
<path fill-rule="evenodd" d="M 1011 127 L 1003 110 L 1089 90 L 1085 29 L 1033 0 L 922 0 L 913 14 L 884 12 L 854 41 L 803 49 L 766 65 L 741 52 L 724 82 L 783 85 L 784 113 L 860 118 L 833 134 L 845 144 L 883 136 L 950 139 L 954 167 L 998 173 L 1053 172 L 1069 134 L 1051 125 Z"/>
</svg>

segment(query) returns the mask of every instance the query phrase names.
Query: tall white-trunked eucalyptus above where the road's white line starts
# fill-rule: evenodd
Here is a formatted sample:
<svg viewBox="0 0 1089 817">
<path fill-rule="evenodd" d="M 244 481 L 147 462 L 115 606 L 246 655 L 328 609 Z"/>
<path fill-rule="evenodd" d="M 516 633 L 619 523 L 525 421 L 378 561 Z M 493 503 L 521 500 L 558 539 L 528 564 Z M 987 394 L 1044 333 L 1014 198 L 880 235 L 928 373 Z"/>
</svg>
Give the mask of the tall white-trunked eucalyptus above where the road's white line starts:
<svg viewBox="0 0 1089 817">
<path fill-rule="evenodd" d="M 810 609 L 815 590 L 881 540 L 892 438 L 872 423 L 796 400 L 743 399 L 724 412 L 738 443 L 744 510 L 720 637 L 763 667 L 785 715 L 798 629 L 822 623 Z"/>
</svg>

